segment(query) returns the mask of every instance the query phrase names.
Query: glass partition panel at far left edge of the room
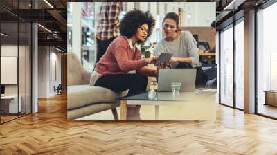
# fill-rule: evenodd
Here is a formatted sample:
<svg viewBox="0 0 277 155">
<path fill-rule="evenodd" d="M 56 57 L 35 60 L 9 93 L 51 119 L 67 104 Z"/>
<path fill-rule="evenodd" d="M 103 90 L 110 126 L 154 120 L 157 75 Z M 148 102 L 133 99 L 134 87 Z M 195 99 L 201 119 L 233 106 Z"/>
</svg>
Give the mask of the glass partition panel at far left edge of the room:
<svg viewBox="0 0 277 155">
<path fill-rule="evenodd" d="M 21 105 L 18 104 L 18 24 L 1 23 L 1 122 L 17 118 Z M 5 35 L 3 35 L 5 34 Z M 21 111 L 19 111 L 21 112 Z"/>
</svg>

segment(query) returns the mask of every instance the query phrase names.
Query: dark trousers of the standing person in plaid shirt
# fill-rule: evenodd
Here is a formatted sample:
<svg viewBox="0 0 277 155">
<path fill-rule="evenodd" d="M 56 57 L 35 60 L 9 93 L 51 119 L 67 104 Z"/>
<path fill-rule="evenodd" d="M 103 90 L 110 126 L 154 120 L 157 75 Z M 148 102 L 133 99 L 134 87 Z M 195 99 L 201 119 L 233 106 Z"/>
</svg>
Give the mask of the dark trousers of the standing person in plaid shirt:
<svg viewBox="0 0 277 155">
<path fill-rule="evenodd" d="M 96 63 L 99 62 L 100 58 L 105 54 L 107 48 L 109 47 L 109 44 L 111 44 L 112 41 L 114 41 L 116 37 L 111 37 L 107 40 L 100 40 L 96 39 L 97 42 L 97 58 Z"/>
</svg>

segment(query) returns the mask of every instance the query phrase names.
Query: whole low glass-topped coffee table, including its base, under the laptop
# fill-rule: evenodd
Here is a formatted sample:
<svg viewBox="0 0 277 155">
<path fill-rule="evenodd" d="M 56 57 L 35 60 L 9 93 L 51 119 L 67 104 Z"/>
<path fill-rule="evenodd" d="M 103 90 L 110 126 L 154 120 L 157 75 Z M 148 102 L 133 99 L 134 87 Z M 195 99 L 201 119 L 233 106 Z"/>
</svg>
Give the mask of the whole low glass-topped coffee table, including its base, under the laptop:
<svg viewBox="0 0 277 155">
<path fill-rule="evenodd" d="M 120 98 L 120 120 L 126 120 L 128 105 L 152 106 L 154 111 L 142 111 L 141 120 L 215 120 L 216 89 L 195 89 L 193 92 L 146 91 Z M 143 113 L 153 117 L 143 117 Z M 146 118 L 146 119 L 143 119 Z"/>
</svg>

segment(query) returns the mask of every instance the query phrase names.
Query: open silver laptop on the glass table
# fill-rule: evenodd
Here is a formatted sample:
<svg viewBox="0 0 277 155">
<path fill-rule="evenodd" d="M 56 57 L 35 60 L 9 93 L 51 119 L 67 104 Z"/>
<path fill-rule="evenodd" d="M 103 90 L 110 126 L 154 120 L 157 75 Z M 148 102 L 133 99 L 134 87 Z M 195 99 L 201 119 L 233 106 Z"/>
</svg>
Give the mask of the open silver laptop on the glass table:
<svg viewBox="0 0 277 155">
<path fill-rule="evenodd" d="M 196 69 L 159 69 L 157 91 L 171 91 L 172 82 L 180 82 L 180 91 L 195 91 Z"/>
</svg>

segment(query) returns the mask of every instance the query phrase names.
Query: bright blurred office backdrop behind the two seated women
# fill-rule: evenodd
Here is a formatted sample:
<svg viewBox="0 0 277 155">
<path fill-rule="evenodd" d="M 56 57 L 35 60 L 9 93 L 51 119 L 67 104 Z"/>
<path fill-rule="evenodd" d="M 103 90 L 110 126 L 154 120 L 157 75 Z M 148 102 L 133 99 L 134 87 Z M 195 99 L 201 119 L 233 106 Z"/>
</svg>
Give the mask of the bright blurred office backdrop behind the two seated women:
<svg viewBox="0 0 277 155">
<path fill-rule="evenodd" d="M 68 3 L 67 8 L 67 50 L 78 55 L 87 71 L 92 71 L 95 63 L 95 12 L 96 8 L 100 6 L 100 3 L 101 2 Z M 123 11 L 120 12 L 120 18 L 122 18 L 128 10 L 150 10 L 150 13 L 156 19 L 156 26 L 148 42 L 159 42 L 163 36 L 161 27 L 163 17 L 167 12 L 176 12 L 180 16 L 180 27 L 182 30 L 192 31 L 195 35 L 198 35 L 199 41 L 209 42 L 211 48 L 215 46 L 215 37 L 210 32 L 211 23 L 215 21 L 215 9 L 213 9 L 215 8 L 215 3 L 123 2 L 122 5 Z M 202 29 L 202 31 L 199 29 Z"/>
</svg>

